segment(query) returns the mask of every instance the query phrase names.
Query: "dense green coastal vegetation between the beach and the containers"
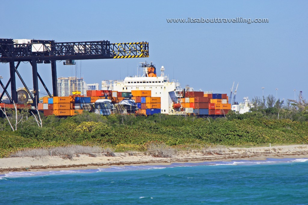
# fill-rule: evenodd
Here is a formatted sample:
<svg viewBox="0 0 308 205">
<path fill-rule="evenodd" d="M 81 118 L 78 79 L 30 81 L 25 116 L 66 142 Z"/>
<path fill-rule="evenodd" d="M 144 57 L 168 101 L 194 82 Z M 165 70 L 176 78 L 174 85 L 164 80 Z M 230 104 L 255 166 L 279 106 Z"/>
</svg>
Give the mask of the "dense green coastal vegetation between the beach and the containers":
<svg viewBox="0 0 308 205">
<path fill-rule="evenodd" d="M 72 144 L 118 151 L 145 150 L 153 142 L 174 147 L 307 144 L 307 109 L 293 108 L 256 106 L 251 113 L 231 112 L 219 119 L 164 114 L 101 116 L 89 112 L 60 119 L 41 114 L 42 127 L 32 113 L 18 112 L 16 121 L 15 111 L 7 110 L 12 126 L 8 119 L 0 118 L 0 157 L 25 148 Z M 38 115 L 36 118 L 39 120 Z"/>
</svg>

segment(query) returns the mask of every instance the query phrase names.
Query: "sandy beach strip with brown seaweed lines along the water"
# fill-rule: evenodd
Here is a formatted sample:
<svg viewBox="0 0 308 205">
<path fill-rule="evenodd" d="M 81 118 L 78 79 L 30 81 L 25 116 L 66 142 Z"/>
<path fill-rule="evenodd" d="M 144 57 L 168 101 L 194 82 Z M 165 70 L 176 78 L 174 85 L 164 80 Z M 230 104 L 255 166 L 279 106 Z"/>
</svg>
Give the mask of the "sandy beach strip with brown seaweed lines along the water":
<svg viewBox="0 0 308 205">
<path fill-rule="evenodd" d="M 308 158 L 308 145 L 272 147 L 215 147 L 205 150 L 178 151 L 172 158 L 153 157 L 146 152 L 115 153 L 115 156 L 79 155 L 72 159 L 61 156 L 10 157 L 0 159 L 0 174 L 12 171 L 50 171 L 106 168 L 111 165 L 171 164 L 205 161 L 262 160 L 266 158 Z"/>
</svg>

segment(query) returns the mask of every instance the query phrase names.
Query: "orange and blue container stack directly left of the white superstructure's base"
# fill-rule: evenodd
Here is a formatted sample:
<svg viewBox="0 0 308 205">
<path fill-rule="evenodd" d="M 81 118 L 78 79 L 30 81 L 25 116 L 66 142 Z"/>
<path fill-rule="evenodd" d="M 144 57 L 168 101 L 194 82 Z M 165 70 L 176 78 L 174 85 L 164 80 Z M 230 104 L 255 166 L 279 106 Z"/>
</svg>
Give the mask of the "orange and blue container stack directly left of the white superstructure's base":
<svg viewBox="0 0 308 205">
<path fill-rule="evenodd" d="M 137 104 L 137 114 L 153 115 L 160 113 L 160 97 L 151 97 L 151 90 L 132 90 L 132 96 Z"/>
</svg>

